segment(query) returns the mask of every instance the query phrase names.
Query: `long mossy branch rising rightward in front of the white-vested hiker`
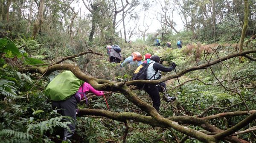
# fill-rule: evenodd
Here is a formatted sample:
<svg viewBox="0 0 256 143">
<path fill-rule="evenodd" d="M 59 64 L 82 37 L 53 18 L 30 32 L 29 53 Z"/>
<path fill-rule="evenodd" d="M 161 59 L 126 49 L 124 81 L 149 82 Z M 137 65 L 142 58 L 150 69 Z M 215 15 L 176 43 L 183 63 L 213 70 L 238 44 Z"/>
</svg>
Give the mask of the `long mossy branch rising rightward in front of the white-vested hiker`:
<svg viewBox="0 0 256 143">
<path fill-rule="evenodd" d="M 154 80 L 154 81 L 150 81 L 150 80 L 135 80 L 135 81 L 128 81 L 126 82 L 126 85 L 134 85 L 134 84 L 142 84 L 142 83 L 146 83 L 146 84 L 159 84 L 161 82 L 164 82 L 164 81 L 168 81 L 170 79 L 175 79 L 175 78 L 178 78 L 180 76 L 183 76 L 184 74 L 186 73 L 189 73 L 191 71 L 194 71 L 194 70 L 201 70 L 201 69 L 207 69 L 209 67 L 209 65 L 214 65 L 214 64 L 218 64 L 219 62 L 223 62 L 223 61 L 226 61 L 227 59 L 231 59 L 231 58 L 235 58 L 237 56 L 244 56 L 244 55 L 247 55 L 249 53 L 256 53 L 256 50 L 246 50 L 246 51 L 243 51 L 241 53 L 233 53 L 233 54 L 230 54 L 228 56 L 224 56 L 220 59 L 216 59 L 212 62 L 209 62 L 208 63 L 205 63 L 205 64 L 200 64 L 198 66 L 195 66 L 195 67 L 189 67 L 189 68 L 186 68 L 182 71 L 180 71 L 179 73 L 177 74 L 174 74 L 174 75 L 170 75 L 170 76 L 165 76 L 165 77 L 162 77 L 161 79 L 159 80 Z"/>
</svg>

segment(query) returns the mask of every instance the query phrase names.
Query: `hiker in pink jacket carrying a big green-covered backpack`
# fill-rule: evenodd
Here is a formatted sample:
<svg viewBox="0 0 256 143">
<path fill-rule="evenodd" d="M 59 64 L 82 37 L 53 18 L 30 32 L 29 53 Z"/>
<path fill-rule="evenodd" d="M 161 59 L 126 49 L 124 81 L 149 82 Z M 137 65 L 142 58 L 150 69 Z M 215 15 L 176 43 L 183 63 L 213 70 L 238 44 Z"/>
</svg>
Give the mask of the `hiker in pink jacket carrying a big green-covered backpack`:
<svg viewBox="0 0 256 143">
<path fill-rule="evenodd" d="M 70 82 L 70 83 L 67 83 Z M 95 90 L 90 84 L 78 78 L 71 71 L 64 71 L 58 74 L 47 85 L 45 95 L 52 101 L 52 108 L 58 109 L 57 113 L 63 116 L 70 116 L 74 121 L 68 124 L 71 132 L 64 129 L 63 140 L 71 139 L 76 130 L 77 103 L 86 98 L 87 92 L 92 92 L 96 96 L 102 96 L 103 91 Z M 87 102 L 87 100 L 86 100 Z"/>
</svg>

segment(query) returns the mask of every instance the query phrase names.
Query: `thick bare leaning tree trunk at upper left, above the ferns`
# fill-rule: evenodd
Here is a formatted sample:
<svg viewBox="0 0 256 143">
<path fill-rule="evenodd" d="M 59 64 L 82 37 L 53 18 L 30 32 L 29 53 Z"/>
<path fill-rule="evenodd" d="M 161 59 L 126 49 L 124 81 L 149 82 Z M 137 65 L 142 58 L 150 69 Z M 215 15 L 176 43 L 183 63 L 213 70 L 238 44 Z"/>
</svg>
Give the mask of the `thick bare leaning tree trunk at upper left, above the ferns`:
<svg viewBox="0 0 256 143">
<path fill-rule="evenodd" d="M 44 4 L 45 4 L 45 1 L 40 0 L 40 6 L 39 6 L 39 9 L 38 9 L 38 18 L 35 21 L 34 31 L 33 31 L 33 34 L 32 34 L 34 39 L 35 39 L 36 35 L 38 34 L 39 29 L 41 28 L 41 24 L 44 22 Z"/>
</svg>

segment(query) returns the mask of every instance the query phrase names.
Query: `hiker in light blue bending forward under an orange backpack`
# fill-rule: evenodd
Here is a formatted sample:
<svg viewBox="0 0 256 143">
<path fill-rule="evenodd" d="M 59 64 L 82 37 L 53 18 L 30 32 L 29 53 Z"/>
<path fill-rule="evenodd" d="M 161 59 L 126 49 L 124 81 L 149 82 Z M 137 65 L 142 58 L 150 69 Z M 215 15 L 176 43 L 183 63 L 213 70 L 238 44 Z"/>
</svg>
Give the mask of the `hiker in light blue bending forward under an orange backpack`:
<svg viewBox="0 0 256 143">
<path fill-rule="evenodd" d="M 140 64 L 143 63 L 141 60 L 142 60 L 142 56 L 140 52 L 133 52 L 131 56 L 129 56 L 124 60 L 124 62 L 122 62 L 121 67 L 124 67 L 125 64 L 134 64 L 136 62 L 137 62 L 137 66 L 140 66 Z"/>
</svg>

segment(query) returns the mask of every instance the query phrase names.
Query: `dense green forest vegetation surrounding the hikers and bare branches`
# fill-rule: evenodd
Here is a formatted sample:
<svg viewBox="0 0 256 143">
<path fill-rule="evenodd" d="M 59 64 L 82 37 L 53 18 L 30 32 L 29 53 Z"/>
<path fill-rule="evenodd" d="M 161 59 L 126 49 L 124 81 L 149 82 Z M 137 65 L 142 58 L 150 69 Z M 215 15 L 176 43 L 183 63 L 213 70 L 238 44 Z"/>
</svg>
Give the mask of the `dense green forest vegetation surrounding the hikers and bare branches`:
<svg viewBox="0 0 256 143">
<path fill-rule="evenodd" d="M 93 52 L 102 53 L 103 56 L 87 53 L 61 63 L 77 65 L 85 75 L 96 79 L 115 81 L 111 84 L 125 83 L 130 81 L 136 65 L 128 64 L 121 68 L 119 63 L 108 62 L 105 46 L 118 44 L 125 58 L 133 51 L 139 51 L 142 55 L 157 54 L 165 66 L 175 62 L 177 73 L 180 73 L 188 68 L 236 53 L 244 18 L 241 0 L 234 0 L 232 3 L 229 0 L 165 0 L 163 3 L 159 2 L 161 11 L 157 12 L 158 16 L 154 19 L 161 23 L 161 28 L 153 33 L 147 33 L 150 25 L 143 23 L 143 27 L 139 28 L 136 20 L 142 20 L 138 13 L 149 12 L 150 8 L 154 8 L 154 3 L 144 0 L 83 0 L 82 6 L 88 7 L 86 9 L 90 11 L 89 14 L 74 8 L 72 4 L 77 3 L 79 2 L 73 0 L 1 1 L 1 142 L 59 143 L 62 141 L 62 129 L 69 129 L 67 124 L 70 122 L 65 120 L 69 117 L 61 116 L 53 110 L 51 101 L 44 95 L 44 89 L 49 81 L 62 70 L 44 75 L 35 70 L 38 69 L 37 67 L 49 68 L 64 57 L 92 49 Z M 41 11 L 43 17 L 40 18 L 38 13 L 41 4 L 44 8 Z M 244 51 L 256 47 L 255 6 L 255 0 L 249 0 L 250 19 L 244 40 L 247 43 L 244 44 Z M 177 10 L 178 16 L 186 27 L 183 31 L 176 31 L 175 19 L 172 17 L 174 13 L 169 9 Z M 117 14 L 122 15 L 122 18 Z M 147 18 L 148 16 L 145 17 Z M 123 32 L 118 30 L 121 22 L 123 22 L 121 31 L 127 32 L 124 39 Z M 128 27 L 125 24 L 128 22 L 135 22 L 134 27 Z M 139 32 L 143 39 L 126 43 Z M 162 40 L 160 46 L 154 45 L 156 38 Z M 181 50 L 177 49 L 176 45 L 179 39 L 183 41 Z M 166 42 L 172 43 L 171 48 L 167 48 Z M 247 111 L 253 114 L 256 109 L 256 53 L 250 53 L 249 56 L 251 59 L 241 57 L 239 60 L 235 57 L 211 66 L 207 65 L 205 69 L 191 70 L 181 75 L 178 78 L 179 81 L 177 78 L 165 81 L 167 92 L 177 97 L 177 100 L 167 103 L 163 94 L 160 93 L 159 114 L 163 118 L 174 119 L 187 116 L 209 119 L 213 117 L 211 115 L 220 115 L 220 113 L 245 112 L 241 115 L 206 119 L 212 128 L 217 128 L 214 130 L 216 132 L 209 132 L 200 123 L 193 124 L 192 119 L 188 123 L 177 121 L 185 129 L 186 127 L 194 129 L 193 131 L 197 130 L 205 135 L 215 135 L 222 132 L 218 129 L 227 130 L 236 126 L 248 117 Z M 26 70 L 33 67 L 35 69 Z M 162 75 L 170 77 L 175 75 L 175 71 L 162 73 Z M 133 89 L 132 92 L 140 101 L 152 104 L 151 98 L 144 90 L 134 90 L 134 86 L 130 86 L 130 89 Z M 110 91 L 110 89 L 107 90 Z M 104 109 L 105 113 L 108 110 L 113 115 L 114 113 L 135 113 L 131 114 L 131 117 L 143 115 L 145 119 L 152 116 L 148 110 L 141 109 L 132 103 L 127 95 L 119 90 L 116 91 L 118 92 L 105 92 L 109 110 L 104 98 L 93 95 L 88 95 L 89 105 L 81 102 L 78 108 Z M 152 117 L 155 118 L 155 116 Z M 150 123 L 137 122 L 135 119 L 118 121 L 111 118 L 113 117 L 96 114 L 77 117 L 76 135 L 74 140 L 71 140 L 72 143 L 203 142 L 171 127 L 153 126 Z M 256 140 L 255 126 L 255 121 L 247 123 L 236 130 L 237 135 L 233 134 L 233 137 L 243 139 L 245 143 L 253 143 Z M 129 129 L 125 135 L 127 127 Z M 246 129 L 251 130 L 241 132 Z M 221 141 L 227 142 L 226 138 Z"/>
</svg>

